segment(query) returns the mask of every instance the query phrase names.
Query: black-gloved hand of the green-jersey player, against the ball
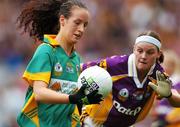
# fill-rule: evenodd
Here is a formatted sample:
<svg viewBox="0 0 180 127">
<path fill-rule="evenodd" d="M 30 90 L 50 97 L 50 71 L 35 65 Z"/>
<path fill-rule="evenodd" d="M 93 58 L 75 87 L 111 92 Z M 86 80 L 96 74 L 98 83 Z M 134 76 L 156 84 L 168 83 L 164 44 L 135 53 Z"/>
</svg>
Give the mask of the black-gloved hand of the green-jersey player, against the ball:
<svg viewBox="0 0 180 127">
<path fill-rule="evenodd" d="M 69 101 L 71 104 L 99 104 L 102 101 L 102 95 L 95 90 L 87 95 L 85 95 L 86 86 L 83 85 L 79 91 L 73 95 L 69 95 Z"/>
</svg>

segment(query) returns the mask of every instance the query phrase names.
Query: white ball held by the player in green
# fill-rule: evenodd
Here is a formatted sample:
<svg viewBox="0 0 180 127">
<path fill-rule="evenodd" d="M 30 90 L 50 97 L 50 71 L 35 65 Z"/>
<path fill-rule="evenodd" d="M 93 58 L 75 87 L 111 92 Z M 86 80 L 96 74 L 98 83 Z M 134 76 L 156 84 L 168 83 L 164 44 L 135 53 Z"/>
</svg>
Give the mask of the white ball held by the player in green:
<svg viewBox="0 0 180 127">
<path fill-rule="evenodd" d="M 99 66 L 92 66 L 85 69 L 78 78 L 78 87 L 86 85 L 85 94 L 98 90 L 105 98 L 112 91 L 112 78 L 110 74 Z"/>
</svg>

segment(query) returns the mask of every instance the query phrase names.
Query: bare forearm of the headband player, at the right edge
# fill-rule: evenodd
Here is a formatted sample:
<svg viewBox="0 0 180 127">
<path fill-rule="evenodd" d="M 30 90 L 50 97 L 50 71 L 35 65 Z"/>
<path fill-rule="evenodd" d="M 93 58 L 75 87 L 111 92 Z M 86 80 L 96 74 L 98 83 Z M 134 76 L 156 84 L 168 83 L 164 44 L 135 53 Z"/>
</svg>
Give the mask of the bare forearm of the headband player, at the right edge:
<svg viewBox="0 0 180 127">
<path fill-rule="evenodd" d="M 180 94 L 176 90 L 172 90 L 172 96 L 168 98 L 169 103 L 174 107 L 180 107 Z"/>
</svg>

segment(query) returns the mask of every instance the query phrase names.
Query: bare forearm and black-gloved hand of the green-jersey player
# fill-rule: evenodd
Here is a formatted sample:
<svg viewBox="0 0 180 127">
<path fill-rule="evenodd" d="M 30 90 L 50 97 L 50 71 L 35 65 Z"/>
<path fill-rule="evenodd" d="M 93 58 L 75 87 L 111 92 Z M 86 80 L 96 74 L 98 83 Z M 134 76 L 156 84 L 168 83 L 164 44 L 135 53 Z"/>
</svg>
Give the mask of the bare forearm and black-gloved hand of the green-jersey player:
<svg viewBox="0 0 180 127">
<path fill-rule="evenodd" d="M 86 86 L 82 86 L 78 92 L 73 95 L 55 92 L 47 88 L 47 84 L 43 81 L 34 81 L 33 92 L 35 100 L 48 104 L 99 104 L 102 101 L 102 95 L 95 90 L 88 95 L 84 94 Z"/>
</svg>

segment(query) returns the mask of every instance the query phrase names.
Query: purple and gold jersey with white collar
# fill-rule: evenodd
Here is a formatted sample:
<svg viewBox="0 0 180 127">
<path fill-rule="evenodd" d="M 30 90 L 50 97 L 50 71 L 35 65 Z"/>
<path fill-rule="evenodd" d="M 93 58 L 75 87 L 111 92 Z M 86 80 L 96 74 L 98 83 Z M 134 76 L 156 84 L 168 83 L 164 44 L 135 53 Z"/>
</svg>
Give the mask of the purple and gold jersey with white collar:
<svg viewBox="0 0 180 127">
<path fill-rule="evenodd" d="M 163 69 L 155 64 L 140 83 L 134 59 L 133 54 L 113 56 L 82 65 L 82 70 L 93 65 L 101 66 L 113 79 L 112 93 L 100 105 L 86 106 L 82 119 L 89 116 L 105 127 L 127 127 L 144 119 L 155 98 L 155 92 L 148 86 L 151 81 L 149 77 L 156 79 L 156 70 Z"/>
</svg>

